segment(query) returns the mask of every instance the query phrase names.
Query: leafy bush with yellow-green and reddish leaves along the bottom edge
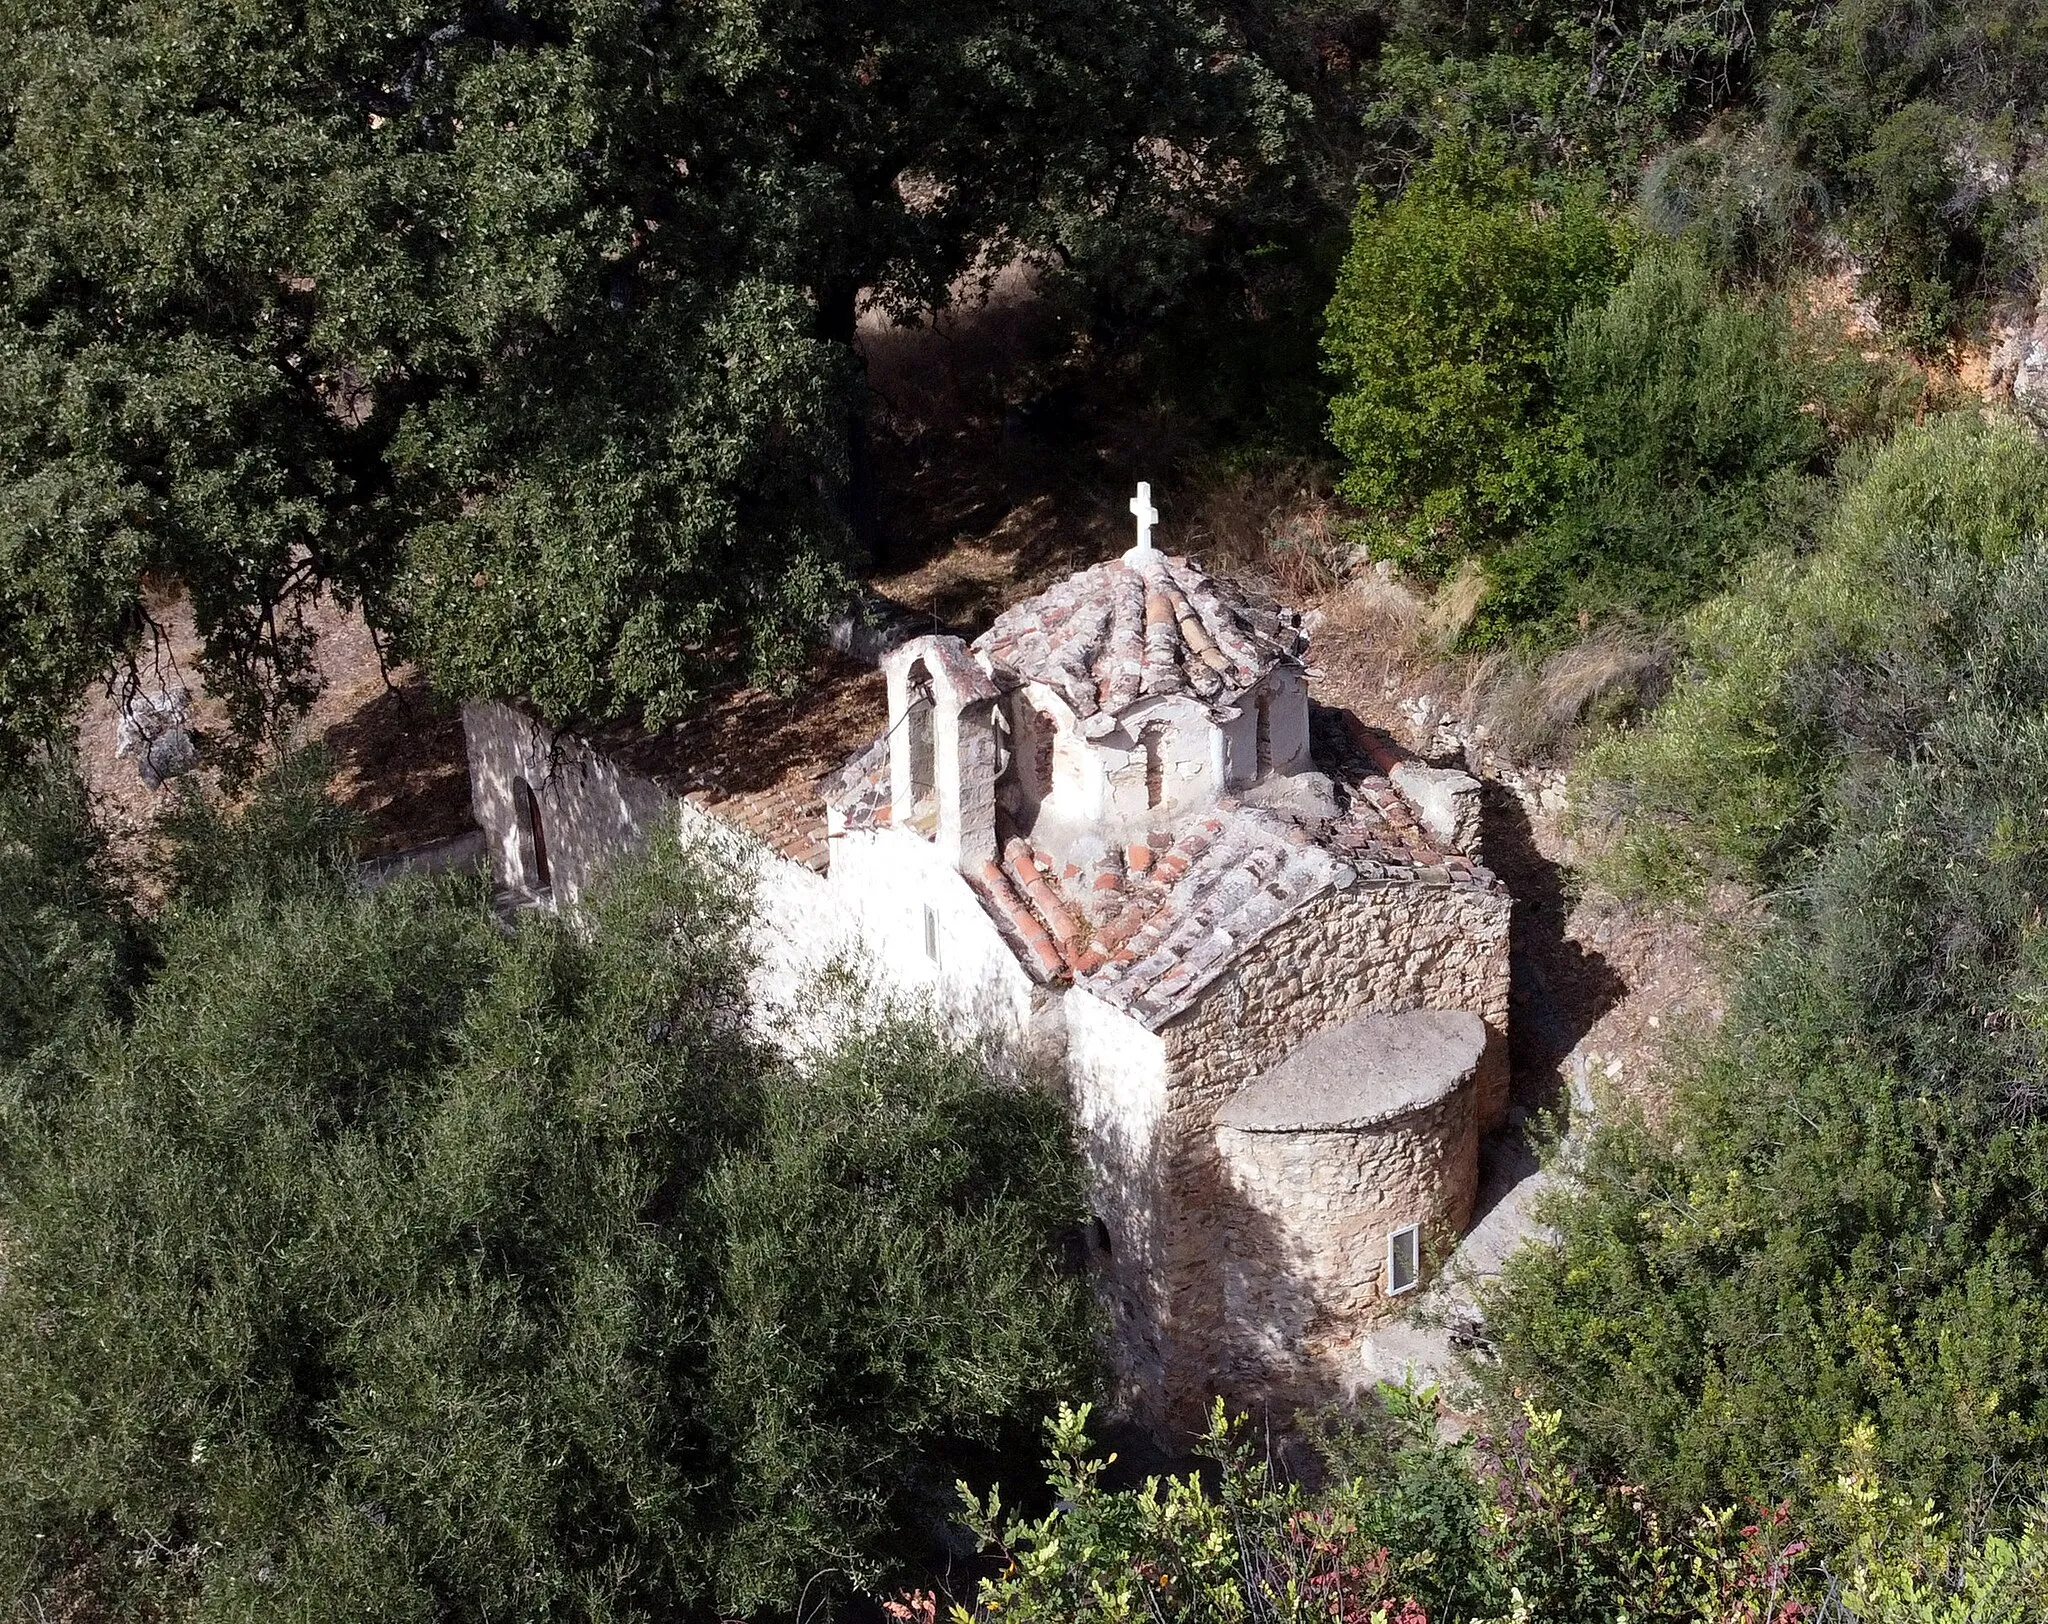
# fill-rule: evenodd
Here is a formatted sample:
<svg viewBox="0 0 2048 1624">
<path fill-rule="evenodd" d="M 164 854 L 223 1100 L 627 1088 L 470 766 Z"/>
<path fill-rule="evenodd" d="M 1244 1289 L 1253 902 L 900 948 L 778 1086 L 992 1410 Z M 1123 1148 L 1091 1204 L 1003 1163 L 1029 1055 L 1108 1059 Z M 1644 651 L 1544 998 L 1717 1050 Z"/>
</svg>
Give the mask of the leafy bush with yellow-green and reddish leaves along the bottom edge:
<svg viewBox="0 0 2048 1624">
<path fill-rule="evenodd" d="M 1006 1518 L 963 1485 L 1001 1561 L 954 1624 L 2030 1624 L 2048 1608 L 2048 1511 L 1964 1538 L 1847 1440 L 1823 1528 L 1784 1507 L 1665 1524 L 1640 1489 L 1575 1470 L 1556 1413 L 1444 1444 L 1432 1393 L 1378 1388 L 1321 1434 L 1317 1487 L 1280 1477 L 1219 1407 L 1212 1475 L 1112 1491 L 1087 1409 L 1049 1423 L 1057 1507 Z M 930 1591 L 887 1612 L 936 1624 Z"/>
</svg>

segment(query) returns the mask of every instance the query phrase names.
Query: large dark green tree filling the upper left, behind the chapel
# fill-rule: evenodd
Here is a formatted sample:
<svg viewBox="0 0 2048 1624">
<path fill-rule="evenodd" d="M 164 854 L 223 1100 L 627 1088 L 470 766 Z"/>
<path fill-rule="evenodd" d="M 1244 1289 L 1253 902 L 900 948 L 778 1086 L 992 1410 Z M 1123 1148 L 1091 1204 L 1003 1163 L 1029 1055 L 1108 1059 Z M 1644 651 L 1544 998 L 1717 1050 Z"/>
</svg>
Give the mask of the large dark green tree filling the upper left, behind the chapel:
<svg viewBox="0 0 2048 1624">
<path fill-rule="evenodd" d="M 317 592 L 557 721 L 770 680 L 864 512 L 860 291 L 940 303 L 1020 248 L 1171 276 L 1294 111 L 1190 0 L 8 0 L 0 33 L 16 747 L 152 580 L 246 735 L 305 698 Z"/>
</svg>

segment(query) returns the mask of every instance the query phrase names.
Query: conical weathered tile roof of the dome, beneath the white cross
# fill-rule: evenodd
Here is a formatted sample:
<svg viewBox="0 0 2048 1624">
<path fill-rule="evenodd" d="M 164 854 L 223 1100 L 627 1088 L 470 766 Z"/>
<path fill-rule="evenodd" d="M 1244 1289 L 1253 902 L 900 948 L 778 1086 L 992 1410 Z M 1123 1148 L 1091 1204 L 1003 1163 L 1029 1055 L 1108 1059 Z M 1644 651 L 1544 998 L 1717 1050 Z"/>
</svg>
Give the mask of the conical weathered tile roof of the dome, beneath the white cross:
<svg viewBox="0 0 2048 1624">
<path fill-rule="evenodd" d="M 1298 614 L 1165 553 L 1069 575 L 975 639 L 999 676 L 1059 690 L 1090 733 L 1153 694 L 1227 704 L 1307 645 Z"/>
</svg>

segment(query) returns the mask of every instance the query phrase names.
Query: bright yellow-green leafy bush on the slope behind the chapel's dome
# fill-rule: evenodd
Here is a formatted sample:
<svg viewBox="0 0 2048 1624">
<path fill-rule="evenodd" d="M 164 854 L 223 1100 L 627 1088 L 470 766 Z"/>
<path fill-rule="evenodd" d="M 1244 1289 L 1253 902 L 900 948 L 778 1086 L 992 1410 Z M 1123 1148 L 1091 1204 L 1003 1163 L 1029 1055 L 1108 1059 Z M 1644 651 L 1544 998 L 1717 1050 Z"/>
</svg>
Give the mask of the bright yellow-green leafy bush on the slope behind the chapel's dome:
<svg viewBox="0 0 2048 1624">
<path fill-rule="evenodd" d="M 1446 145 L 1395 203 L 1366 197 L 1323 348 L 1341 494 L 1438 573 L 1544 518 L 1579 467 L 1552 358 L 1622 262 L 1599 205 L 1538 199 L 1487 152 Z"/>
</svg>

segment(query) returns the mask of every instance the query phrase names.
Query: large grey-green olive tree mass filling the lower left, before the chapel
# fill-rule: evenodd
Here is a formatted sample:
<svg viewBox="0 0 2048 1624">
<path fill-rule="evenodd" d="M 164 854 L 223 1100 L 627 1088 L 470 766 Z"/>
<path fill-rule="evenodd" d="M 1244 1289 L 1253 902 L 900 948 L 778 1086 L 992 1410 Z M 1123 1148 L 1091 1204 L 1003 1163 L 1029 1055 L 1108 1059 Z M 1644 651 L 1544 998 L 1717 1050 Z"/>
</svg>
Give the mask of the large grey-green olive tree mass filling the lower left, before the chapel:
<svg viewBox="0 0 2048 1624">
<path fill-rule="evenodd" d="M 743 903 L 672 842 L 588 936 L 506 938 L 225 834 L 133 1018 L 6 1120 L 18 1608 L 788 1610 L 1085 1380 L 1057 1104 L 915 1026 L 762 1049 Z"/>
</svg>

